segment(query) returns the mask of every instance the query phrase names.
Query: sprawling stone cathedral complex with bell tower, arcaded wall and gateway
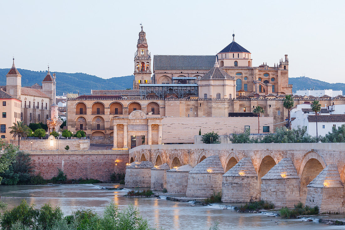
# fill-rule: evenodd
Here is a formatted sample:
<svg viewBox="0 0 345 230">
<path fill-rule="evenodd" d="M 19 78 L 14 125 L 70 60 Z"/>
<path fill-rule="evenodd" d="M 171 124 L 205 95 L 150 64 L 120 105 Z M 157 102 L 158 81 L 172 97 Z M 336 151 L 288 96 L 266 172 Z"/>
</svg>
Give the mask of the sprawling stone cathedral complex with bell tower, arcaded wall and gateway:
<svg viewBox="0 0 345 230">
<path fill-rule="evenodd" d="M 91 90 L 67 102 L 70 131 L 84 130 L 91 143 L 114 149 L 140 144 L 194 143 L 194 135 L 274 132 L 288 116 L 283 107 L 288 84 L 287 55 L 279 63 L 253 67 L 251 53 L 235 41 L 214 55 L 154 55 L 141 27 L 131 90 Z M 295 105 L 314 98 L 294 96 Z M 322 105 L 343 104 L 318 98 Z M 338 102 L 338 103 L 337 103 Z M 252 113 L 262 106 L 264 114 Z"/>
</svg>

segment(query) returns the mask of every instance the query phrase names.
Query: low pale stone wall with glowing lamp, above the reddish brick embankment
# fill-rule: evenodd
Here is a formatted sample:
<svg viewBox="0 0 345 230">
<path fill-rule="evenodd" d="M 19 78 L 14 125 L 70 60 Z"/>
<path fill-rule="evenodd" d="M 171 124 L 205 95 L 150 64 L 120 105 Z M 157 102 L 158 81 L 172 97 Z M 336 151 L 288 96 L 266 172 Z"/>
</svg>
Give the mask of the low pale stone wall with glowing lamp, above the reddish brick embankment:
<svg viewBox="0 0 345 230">
<path fill-rule="evenodd" d="M 65 150 L 66 145 L 69 146 L 69 150 L 88 150 L 90 147 L 90 140 L 88 139 L 27 139 L 20 140 L 19 150 Z M 11 144 L 18 145 L 17 140 L 10 140 Z"/>
</svg>

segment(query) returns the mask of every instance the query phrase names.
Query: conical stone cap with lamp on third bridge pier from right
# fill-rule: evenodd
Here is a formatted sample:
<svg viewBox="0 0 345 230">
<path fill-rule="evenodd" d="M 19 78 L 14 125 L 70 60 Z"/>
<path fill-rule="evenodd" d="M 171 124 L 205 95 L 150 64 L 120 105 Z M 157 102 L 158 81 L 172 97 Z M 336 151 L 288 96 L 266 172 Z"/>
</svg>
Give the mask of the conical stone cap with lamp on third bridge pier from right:
<svg viewBox="0 0 345 230">
<path fill-rule="evenodd" d="M 250 157 L 243 157 L 223 176 L 258 176 L 258 174 L 254 169 L 252 159 L 250 159 Z"/>
</svg>

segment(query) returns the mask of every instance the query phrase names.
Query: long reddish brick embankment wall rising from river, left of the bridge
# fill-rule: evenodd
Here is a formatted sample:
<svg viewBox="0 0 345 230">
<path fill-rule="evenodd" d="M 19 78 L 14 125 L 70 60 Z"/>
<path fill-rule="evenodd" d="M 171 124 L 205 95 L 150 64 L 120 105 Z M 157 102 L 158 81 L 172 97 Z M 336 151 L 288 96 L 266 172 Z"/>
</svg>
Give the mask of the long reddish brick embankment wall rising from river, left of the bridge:
<svg viewBox="0 0 345 230">
<path fill-rule="evenodd" d="M 125 173 L 128 150 L 26 151 L 30 153 L 35 174 L 44 179 L 61 169 L 67 179 L 89 178 L 110 181 L 113 172 Z"/>
</svg>

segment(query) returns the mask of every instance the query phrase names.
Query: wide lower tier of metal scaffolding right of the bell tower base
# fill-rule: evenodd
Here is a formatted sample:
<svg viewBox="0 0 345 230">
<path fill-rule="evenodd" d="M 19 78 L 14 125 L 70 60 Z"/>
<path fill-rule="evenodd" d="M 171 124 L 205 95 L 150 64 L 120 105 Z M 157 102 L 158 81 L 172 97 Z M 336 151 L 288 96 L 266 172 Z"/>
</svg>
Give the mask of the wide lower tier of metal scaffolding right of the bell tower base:
<svg viewBox="0 0 345 230">
<path fill-rule="evenodd" d="M 197 84 L 140 84 L 140 97 L 144 99 L 147 95 L 155 94 L 159 98 L 166 96 L 176 96 L 184 98 L 188 96 L 198 96 Z"/>
</svg>

